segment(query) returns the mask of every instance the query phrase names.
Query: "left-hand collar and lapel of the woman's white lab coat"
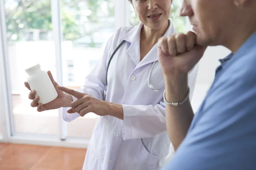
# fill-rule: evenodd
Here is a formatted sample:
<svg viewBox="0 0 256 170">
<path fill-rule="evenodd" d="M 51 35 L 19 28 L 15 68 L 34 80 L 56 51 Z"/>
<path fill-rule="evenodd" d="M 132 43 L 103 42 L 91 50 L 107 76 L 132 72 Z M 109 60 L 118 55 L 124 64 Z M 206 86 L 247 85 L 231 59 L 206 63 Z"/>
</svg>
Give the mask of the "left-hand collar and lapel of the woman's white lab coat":
<svg viewBox="0 0 256 170">
<path fill-rule="evenodd" d="M 143 23 L 140 23 L 138 26 L 134 26 L 134 28 L 122 37 L 123 40 L 131 44 L 126 52 L 136 65 L 140 63 L 140 30 L 142 26 Z"/>
</svg>

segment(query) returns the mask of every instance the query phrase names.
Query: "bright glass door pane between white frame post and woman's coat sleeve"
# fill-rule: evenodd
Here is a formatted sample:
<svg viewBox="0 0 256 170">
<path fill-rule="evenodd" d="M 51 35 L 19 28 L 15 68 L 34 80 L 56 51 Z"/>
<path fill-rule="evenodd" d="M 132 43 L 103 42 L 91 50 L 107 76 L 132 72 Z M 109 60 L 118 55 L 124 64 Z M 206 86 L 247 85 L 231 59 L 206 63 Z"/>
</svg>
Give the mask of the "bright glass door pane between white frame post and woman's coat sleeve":
<svg viewBox="0 0 256 170">
<path fill-rule="evenodd" d="M 64 86 L 80 88 L 114 33 L 113 0 L 61 0 Z M 67 123 L 71 137 L 89 139 L 98 119 L 89 113 Z"/>
</svg>

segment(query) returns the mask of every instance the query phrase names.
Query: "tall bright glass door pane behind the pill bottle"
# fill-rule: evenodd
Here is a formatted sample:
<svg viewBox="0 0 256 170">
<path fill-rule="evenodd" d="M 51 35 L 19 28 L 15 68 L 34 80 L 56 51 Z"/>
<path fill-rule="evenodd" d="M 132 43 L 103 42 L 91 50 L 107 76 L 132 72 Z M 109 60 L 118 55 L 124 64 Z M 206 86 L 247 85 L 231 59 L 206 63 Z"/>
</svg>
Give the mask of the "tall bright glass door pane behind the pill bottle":
<svg viewBox="0 0 256 170">
<path fill-rule="evenodd" d="M 56 77 L 50 0 L 6 0 L 5 10 L 15 133 L 58 134 L 58 111 L 37 112 L 24 87 L 36 63 Z"/>
</svg>

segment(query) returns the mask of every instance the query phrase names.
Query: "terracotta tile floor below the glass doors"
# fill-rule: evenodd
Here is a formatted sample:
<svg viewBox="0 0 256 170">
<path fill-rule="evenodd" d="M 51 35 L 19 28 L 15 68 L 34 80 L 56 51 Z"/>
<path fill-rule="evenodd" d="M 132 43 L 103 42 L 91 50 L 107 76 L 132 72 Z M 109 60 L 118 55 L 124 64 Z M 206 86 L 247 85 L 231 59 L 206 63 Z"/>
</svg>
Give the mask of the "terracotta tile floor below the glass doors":
<svg viewBox="0 0 256 170">
<path fill-rule="evenodd" d="M 0 143 L 0 170 L 81 170 L 86 149 Z"/>
</svg>

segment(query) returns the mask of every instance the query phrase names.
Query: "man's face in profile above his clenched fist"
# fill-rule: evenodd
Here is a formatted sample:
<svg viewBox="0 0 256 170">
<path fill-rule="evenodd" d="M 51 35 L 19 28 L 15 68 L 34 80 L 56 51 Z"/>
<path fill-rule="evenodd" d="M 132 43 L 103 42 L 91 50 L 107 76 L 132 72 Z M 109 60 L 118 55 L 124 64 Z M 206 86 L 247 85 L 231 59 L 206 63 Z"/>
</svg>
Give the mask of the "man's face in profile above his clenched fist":
<svg viewBox="0 0 256 170">
<path fill-rule="evenodd" d="M 223 45 L 236 20 L 234 0 L 183 0 L 180 16 L 188 16 L 200 45 Z"/>
</svg>

